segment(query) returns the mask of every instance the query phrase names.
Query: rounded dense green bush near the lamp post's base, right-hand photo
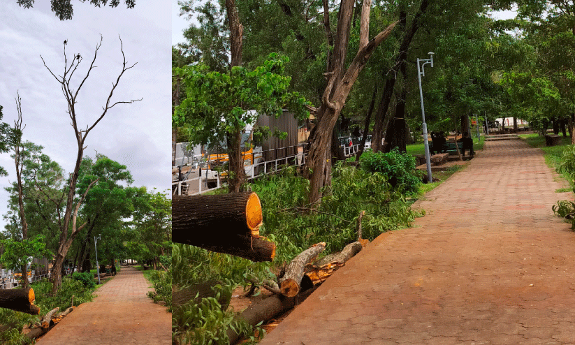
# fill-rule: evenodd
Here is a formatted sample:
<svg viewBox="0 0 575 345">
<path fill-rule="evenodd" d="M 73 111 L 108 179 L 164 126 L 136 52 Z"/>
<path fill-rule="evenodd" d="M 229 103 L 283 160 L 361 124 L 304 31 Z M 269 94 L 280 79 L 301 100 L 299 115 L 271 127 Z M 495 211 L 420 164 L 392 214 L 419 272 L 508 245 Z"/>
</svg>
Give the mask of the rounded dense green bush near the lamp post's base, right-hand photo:
<svg viewBox="0 0 575 345">
<path fill-rule="evenodd" d="M 416 193 L 421 176 L 416 171 L 415 157 L 402 154 L 397 148 L 389 153 L 365 152 L 361 155 L 361 168 L 366 172 L 381 172 L 389 184 L 398 191 Z"/>
</svg>

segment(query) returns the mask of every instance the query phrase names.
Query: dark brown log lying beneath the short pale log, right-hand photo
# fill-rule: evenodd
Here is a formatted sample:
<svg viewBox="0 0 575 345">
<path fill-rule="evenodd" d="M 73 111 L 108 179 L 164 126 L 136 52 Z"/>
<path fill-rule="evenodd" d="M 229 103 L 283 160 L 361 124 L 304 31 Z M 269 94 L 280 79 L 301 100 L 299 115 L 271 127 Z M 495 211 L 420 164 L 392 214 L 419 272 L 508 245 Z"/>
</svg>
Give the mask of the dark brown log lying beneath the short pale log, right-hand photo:
<svg viewBox="0 0 575 345">
<path fill-rule="evenodd" d="M 234 317 L 236 321 L 245 321 L 249 325 L 257 325 L 258 323 L 269 321 L 271 318 L 277 315 L 284 314 L 289 309 L 296 307 L 311 295 L 314 290 L 307 290 L 300 293 L 296 297 L 285 297 L 283 295 L 271 295 L 265 300 L 261 300 L 259 303 L 252 304 L 241 314 Z M 233 329 L 228 328 L 228 338 L 230 339 L 230 345 L 238 342 L 241 335 L 236 333 Z"/>
</svg>

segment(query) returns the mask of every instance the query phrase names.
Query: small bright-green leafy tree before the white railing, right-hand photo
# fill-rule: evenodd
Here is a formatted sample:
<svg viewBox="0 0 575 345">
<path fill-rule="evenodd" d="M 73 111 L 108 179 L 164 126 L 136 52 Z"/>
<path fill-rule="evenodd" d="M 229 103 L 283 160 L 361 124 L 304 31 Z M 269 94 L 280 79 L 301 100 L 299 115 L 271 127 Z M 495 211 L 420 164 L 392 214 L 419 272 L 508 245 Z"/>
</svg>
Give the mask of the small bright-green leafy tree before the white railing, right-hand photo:
<svg viewBox="0 0 575 345">
<path fill-rule="evenodd" d="M 175 69 L 187 98 L 175 108 L 173 126 L 189 126 L 190 141 L 194 144 L 225 140 L 231 170 L 230 191 L 239 191 L 245 179 L 240 139 L 247 124 L 254 124 L 259 114 L 279 117 L 283 108 L 289 108 L 300 118 L 307 115 L 305 99 L 288 91 L 290 78 L 284 75 L 288 61 L 287 57 L 270 54 L 263 66 L 253 71 L 235 66 L 229 73 L 219 73 L 204 65 Z"/>
</svg>

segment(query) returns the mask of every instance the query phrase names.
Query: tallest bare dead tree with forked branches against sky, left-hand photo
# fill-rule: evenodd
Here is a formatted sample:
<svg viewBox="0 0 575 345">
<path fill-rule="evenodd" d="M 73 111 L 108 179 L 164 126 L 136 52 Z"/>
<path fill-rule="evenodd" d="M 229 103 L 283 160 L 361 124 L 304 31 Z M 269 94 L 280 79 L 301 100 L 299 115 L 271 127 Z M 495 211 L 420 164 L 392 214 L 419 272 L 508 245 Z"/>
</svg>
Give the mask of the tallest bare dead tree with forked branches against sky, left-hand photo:
<svg viewBox="0 0 575 345">
<path fill-rule="evenodd" d="M 126 71 L 128 71 L 130 68 L 133 68 L 133 66 L 136 66 L 137 64 L 136 62 L 135 64 L 129 66 L 126 63 L 126 56 L 124 55 L 124 45 L 122 44 L 122 38 L 119 38 L 120 51 L 122 52 L 122 58 L 123 58 L 122 71 L 119 73 L 116 81 L 112 82 L 112 89 L 110 89 L 110 94 L 108 95 L 108 99 L 105 102 L 105 106 L 102 107 L 101 115 L 99 115 L 98 119 L 96 119 L 96 121 L 92 125 L 87 125 L 86 129 L 80 129 L 76 117 L 77 112 L 75 109 L 75 104 L 77 103 L 78 93 L 80 92 L 80 89 L 82 89 L 82 86 L 88 79 L 92 69 L 96 67 L 94 66 L 94 63 L 96 62 L 96 56 L 98 54 L 98 50 L 102 45 L 102 40 L 103 38 L 102 36 L 100 36 L 100 42 L 96 44 L 94 57 L 92 58 L 92 62 L 88 68 L 88 71 L 85 77 L 82 79 L 82 82 L 80 82 L 80 85 L 78 85 L 78 87 L 76 87 L 75 89 L 71 85 L 71 79 L 75 71 L 78 69 L 78 66 L 80 66 L 80 63 L 83 61 L 83 57 L 80 54 L 74 54 L 72 61 L 68 61 L 68 57 L 66 56 L 66 45 L 64 45 L 63 75 L 54 74 L 52 70 L 48 66 L 46 66 L 46 62 L 41 56 L 44 66 L 48 69 L 50 74 L 52 74 L 54 79 L 56 79 L 57 82 L 61 85 L 62 94 L 64 94 L 64 98 L 66 98 L 66 102 L 68 103 L 68 110 L 66 110 L 66 112 L 68 113 L 68 116 L 71 119 L 71 126 L 74 129 L 76 141 L 78 142 L 78 153 L 76 156 L 75 167 L 68 181 L 68 196 L 66 200 L 66 210 L 64 212 L 64 217 L 60 227 L 59 247 L 54 257 L 54 265 L 52 267 L 52 284 L 53 284 L 52 294 L 58 291 L 58 288 L 61 284 L 61 267 L 62 263 L 64 263 L 64 258 L 66 258 L 66 254 L 68 254 L 68 250 L 70 249 L 75 237 L 78 235 L 78 233 L 80 233 L 80 230 L 82 230 L 82 228 L 86 226 L 86 223 L 83 223 L 80 226 L 78 226 L 78 224 L 76 223 L 76 221 L 78 220 L 78 210 L 80 209 L 80 205 L 82 205 L 82 202 L 84 201 L 84 198 L 86 197 L 90 188 L 92 188 L 92 186 L 98 181 L 98 179 L 92 181 L 92 183 L 89 184 L 88 188 L 86 189 L 85 193 L 82 196 L 80 196 L 78 201 L 75 201 L 76 182 L 78 182 L 78 172 L 80 170 L 80 163 L 82 162 L 82 156 L 84 155 L 84 150 L 86 149 L 85 141 L 87 135 L 90 131 L 92 131 L 92 129 L 94 129 L 96 124 L 99 124 L 101 119 L 103 119 L 103 117 L 108 113 L 108 110 L 115 107 L 115 105 L 121 103 L 134 103 L 136 101 L 141 101 L 142 99 L 140 98 L 140 99 L 132 99 L 130 101 L 116 101 L 112 103 L 112 94 L 114 93 L 116 87 L 118 86 L 120 78 L 122 78 L 122 75 L 124 75 Z"/>
</svg>

